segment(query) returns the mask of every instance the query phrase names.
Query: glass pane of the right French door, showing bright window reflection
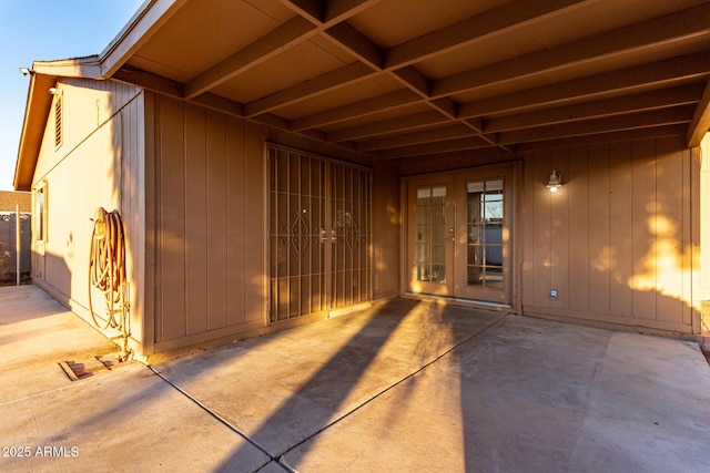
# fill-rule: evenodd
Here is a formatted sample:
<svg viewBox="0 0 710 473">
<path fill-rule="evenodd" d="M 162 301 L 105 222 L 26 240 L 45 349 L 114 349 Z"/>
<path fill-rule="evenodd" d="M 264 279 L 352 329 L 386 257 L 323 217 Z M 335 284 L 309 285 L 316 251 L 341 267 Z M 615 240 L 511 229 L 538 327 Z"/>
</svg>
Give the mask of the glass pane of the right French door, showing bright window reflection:
<svg viewBox="0 0 710 473">
<path fill-rule="evenodd" d="M 503 289 L 503 179 L 467 183 L 467 284 Z"/>
</svg>

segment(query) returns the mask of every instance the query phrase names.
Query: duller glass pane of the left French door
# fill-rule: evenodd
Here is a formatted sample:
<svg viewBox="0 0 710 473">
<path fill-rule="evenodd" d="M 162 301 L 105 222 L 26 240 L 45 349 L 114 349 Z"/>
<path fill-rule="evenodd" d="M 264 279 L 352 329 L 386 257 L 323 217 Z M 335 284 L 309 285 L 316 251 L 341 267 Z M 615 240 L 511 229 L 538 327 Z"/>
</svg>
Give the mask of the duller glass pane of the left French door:
<svg viewBox="0 0 710 473">
<path fill-rule="evenodd" d="M 417 188 L 415 208 L 417 280 L 446 282 L 446 186 Z"/>
</svg>

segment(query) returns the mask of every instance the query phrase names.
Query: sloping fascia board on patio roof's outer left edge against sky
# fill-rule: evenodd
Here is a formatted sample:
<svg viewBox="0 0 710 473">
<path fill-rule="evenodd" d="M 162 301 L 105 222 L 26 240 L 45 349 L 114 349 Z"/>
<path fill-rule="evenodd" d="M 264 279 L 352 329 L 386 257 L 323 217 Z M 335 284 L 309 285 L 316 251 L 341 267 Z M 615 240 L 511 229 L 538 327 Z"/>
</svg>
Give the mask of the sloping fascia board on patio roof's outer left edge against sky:
<svg viewBox="0 0 710 473">
<path fill-rule="evenodd" d="M 99 54 L 102 76 L 113 75 L 186 2 L 187 0 L 146 0 Z"/>
</svg>

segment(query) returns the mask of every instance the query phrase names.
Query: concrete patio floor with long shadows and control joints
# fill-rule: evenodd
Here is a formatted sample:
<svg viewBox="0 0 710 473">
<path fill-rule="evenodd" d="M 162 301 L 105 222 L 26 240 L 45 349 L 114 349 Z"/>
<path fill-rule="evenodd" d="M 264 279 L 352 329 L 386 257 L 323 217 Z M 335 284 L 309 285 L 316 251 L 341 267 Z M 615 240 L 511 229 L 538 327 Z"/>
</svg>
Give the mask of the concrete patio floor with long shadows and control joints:
<svg viewBox="0 0 710 473">
<path fill-rule="evenodd" d="M 395 299 L 154 367 L 58 364 L 112 351 L 39 288 L 0 288 L 0 471 L 700 472 L 710 454 L 710 367 L 677 339 Z"/>
</svg>

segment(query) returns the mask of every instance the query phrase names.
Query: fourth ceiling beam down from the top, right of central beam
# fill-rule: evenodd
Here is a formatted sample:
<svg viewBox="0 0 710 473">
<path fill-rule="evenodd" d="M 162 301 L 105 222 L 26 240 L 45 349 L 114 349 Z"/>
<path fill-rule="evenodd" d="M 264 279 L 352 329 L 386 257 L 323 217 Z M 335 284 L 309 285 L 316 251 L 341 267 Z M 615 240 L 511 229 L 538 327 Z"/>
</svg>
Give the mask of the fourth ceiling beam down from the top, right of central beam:
<svg viewBox="0 0 710 473">
<path fill-rule="evenodd" d="M 682 85 L 622 97 L 586 102 L 557 109 L 540 110 L 519 115 L 485 121 L 484 132 L 499 133 L 532 126 L 600 119 L 635 112 L 646 112 L 677 105 L 698 103 L 702 95 L 701 84 Z"/>
</svg>

